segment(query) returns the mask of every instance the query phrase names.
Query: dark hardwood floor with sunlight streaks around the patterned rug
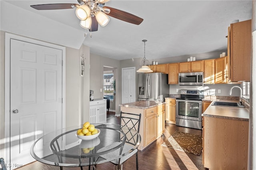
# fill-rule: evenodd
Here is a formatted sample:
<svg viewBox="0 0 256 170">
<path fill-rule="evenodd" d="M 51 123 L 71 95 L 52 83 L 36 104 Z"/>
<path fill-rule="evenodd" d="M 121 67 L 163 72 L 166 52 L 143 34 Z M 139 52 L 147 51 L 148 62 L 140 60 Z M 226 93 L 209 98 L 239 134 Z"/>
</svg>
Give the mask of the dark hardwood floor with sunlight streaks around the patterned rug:
<svg viewBox="0 0 256 170">
<path fill-rule="evenodd" d="M 119 117 L 107 119 L 107 123 L 119 123 Z M 140 170 L 207 170 L 202 164 L 202 153 L 200 156 L 194 155 L 172 148 L 161 146 L 176 130 L 191 134 L 202 135 L 202 130 L 178 127 L 172 124 L 165 125 L 164 134 L 152 143 L 143 152 L 138 152 Z M 98 170 L 113 170 L 114 165 L 110 162 L 97 165 Z M 59 170 L 58 166 L 46 165 L 35 161 L 18 170 Z M 88 167 L 83 167 L 88 170 Z M 92 167 L 91 167 L 92 169 Z M 136 169 L 136 156 L 133 155 L 123 164 L 123 170 Z M 64 167 L 63 170 L 80 170 L 80 167 Z"/>
</svg>

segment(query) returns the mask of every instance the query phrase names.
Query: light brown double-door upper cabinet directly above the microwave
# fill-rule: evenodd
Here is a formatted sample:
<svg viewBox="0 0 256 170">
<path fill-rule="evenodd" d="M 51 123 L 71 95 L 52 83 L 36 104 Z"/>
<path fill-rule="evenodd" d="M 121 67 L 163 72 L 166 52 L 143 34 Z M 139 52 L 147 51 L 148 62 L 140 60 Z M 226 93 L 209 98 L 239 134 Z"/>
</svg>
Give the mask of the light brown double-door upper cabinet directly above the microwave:
<svg viewBox="0 0 256 170">
<path fill-rule="evenodd" d="M 204 61 L 191 61 L 180 63 L 180 73 L 204 71 Z"/>
</svg>

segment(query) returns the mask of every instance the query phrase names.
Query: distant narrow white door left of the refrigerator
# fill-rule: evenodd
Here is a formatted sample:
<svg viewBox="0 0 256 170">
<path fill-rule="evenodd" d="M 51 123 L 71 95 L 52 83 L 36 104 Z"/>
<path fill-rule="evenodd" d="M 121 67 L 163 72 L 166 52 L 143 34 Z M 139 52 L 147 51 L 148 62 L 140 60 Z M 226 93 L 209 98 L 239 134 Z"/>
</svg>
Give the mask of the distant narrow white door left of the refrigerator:
<svg viewBox="0 0 256 170">
<path fill-rule="evenodd" d="M 122 103 L 135 102 L 135 67 L 122 68 Z"/>
</svg>

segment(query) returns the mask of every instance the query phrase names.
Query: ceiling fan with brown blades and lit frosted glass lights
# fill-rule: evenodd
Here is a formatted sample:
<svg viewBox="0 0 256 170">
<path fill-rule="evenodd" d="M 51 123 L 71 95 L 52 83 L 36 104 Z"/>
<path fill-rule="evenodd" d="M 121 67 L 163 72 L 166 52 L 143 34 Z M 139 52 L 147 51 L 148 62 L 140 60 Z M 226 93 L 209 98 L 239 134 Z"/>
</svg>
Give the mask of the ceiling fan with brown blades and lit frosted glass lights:
<svg viewBox="0 0 256 170">
<path fill-rule="evenodd" d="M 98 24 L 106 26 L 109 22 L 109 17 L 112 16 L 116 19 L 129 22 L 131 24 L 139 25 L 143 19 L 112 8 L 104 6 L 110 0 L 78 0 L 79 4 L 40 4 L 31 5 L 36 10 L 60 10 L 76 8 L 76 16 L 80 19 L 80 26 L 88 29 L 90 32 L 98 30 Z"/>
</svg>

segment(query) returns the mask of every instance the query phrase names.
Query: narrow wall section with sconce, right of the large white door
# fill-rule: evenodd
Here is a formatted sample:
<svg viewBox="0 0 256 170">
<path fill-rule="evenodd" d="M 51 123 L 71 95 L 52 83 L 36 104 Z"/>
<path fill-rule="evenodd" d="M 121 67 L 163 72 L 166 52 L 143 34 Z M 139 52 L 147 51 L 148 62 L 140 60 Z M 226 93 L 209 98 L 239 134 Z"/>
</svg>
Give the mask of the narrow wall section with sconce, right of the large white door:
<svg viewBox="0 0 256 170">
<path fill-rule="evenodd" d="M 84 77 L 80 77 L 80 55 L 84 54 Z M 66 127 L 90 121 L 90 48 L 66 47 Z"/>
</svg>

